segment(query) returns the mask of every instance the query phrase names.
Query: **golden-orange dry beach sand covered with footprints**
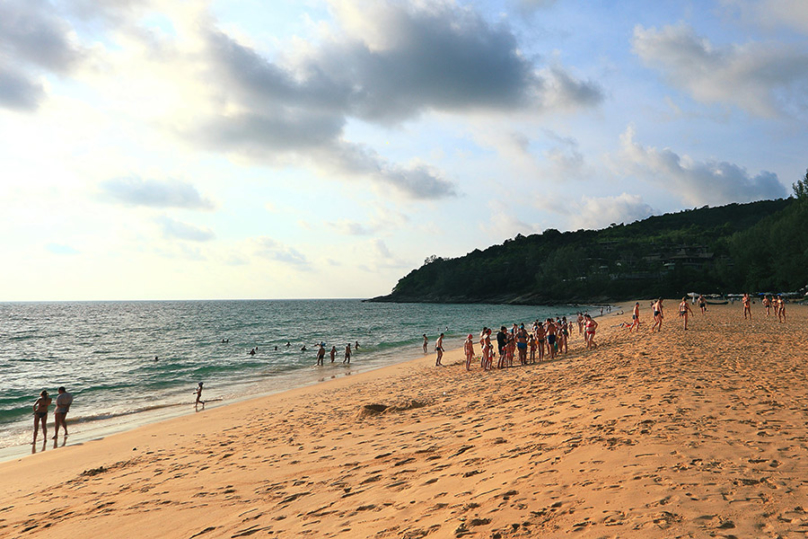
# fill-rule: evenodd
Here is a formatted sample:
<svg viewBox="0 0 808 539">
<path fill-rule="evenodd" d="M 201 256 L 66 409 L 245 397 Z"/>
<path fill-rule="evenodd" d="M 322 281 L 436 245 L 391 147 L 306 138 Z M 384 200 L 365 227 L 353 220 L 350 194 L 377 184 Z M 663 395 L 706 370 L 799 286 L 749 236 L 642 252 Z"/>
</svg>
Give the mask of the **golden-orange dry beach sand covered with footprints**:
<svg viewBox="0 0 808 539">
<path fill-rule="evenodd" d="M 552 363 L 454 351 L 0 464 L 0 536 L 804 537 L 808 309 L 642 307 Z"/>
</svg>

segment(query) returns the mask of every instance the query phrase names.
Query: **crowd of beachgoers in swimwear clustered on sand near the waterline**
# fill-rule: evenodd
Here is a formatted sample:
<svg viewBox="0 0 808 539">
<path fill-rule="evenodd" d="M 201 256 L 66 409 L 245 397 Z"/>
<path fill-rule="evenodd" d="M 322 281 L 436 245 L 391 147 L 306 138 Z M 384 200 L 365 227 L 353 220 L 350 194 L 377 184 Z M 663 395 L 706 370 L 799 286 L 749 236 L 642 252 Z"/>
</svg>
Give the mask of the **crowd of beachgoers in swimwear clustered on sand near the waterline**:
<svg viewBox="0 0 808 539">
<path fill-rule="evenodd" d="M 578 313 L 576 322 L 568 322 L 567 317 L 547 318 L 541 322 L 536 320 L 530 330 L 524 324 L 513 324 L 508 329 L 501 326 L 496 334 L 496 350 L 491 341 L 493 330 L 484 327 L 480 332 L 480 367 L 483 370 L 494 368 L 494 358 L 497 357 L 496 367 L 499 369 L 513 365 L 514 358 L 519 359 L 519 363 L 527 365 L 555 359 L 556 354 L 566 354 L 569 350 L 569 337 L 573 328 L 577 326 L 578 335 L 584 339 L 586 348 L 596 348 L 595 332 L 598 323 L 589 314 Z M 437 355 L 435 366 L 441 366 L 443 359 L 443 333 L 440 334 L 435 343 Z M 427 336 L 424 335 L 424 353 L 427 351 Z M 463 345 L 466 357 L 466 370 L 471 370 L 471 363 L 476 357 L 474 351 L 474 336 L 469 334 Z"/>
</svg>

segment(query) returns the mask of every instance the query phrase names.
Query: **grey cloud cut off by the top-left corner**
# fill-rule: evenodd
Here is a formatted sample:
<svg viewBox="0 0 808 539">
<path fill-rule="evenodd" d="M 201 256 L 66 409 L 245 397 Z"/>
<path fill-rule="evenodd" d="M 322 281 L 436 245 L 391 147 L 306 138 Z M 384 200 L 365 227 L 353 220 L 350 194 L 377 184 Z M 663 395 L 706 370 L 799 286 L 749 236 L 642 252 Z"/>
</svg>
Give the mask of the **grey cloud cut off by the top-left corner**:
<svg viewBox="0 0 808 539">
<path fill-rule="evenodd" d="M 83 57 L 71 26 L 50 2 L 0 2 L 0 107 L 36 110 L 45 98 L 37 77 L 68 74 Z"/>
</svg>

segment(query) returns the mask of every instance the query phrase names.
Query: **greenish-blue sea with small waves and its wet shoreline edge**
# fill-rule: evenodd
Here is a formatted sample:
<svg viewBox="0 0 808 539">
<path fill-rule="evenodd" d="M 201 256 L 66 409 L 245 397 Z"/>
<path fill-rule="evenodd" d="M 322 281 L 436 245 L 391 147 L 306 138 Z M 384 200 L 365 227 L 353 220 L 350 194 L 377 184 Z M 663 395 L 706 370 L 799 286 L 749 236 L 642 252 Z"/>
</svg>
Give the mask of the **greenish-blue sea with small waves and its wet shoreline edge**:
<svg viewBox="0 0 808 539">
<path fill-rule="evenodd" d="M 194 413 L 200 381 L 210 407 L 423 356 L 423 333 L 432 353 L 440 332 L 455 348 L 483 326 L 578 310 L 360 300 L 0 303 L 0 459 L 30 450 L 43 389 L 73 394 L 74 443 Z M 356 341 L 359 351 L 343 365 L 345 345 Z M 319 342 L 336 345 L 334 364 L 326 354 L 326 365 L 315 365 Z"/>
</svg>

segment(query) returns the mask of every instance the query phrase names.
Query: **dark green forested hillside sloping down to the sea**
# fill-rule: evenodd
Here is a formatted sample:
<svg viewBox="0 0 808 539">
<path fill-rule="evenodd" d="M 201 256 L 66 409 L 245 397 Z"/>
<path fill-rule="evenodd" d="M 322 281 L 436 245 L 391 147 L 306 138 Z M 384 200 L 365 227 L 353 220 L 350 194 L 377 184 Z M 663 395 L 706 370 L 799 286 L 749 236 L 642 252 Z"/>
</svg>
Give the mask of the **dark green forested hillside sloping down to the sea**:
<svg viewBox="0 0 808 539">
<path fill-rule="evenodd" d="M 429 257 L 374 301 L 542 304 L 799 290 L 808 284 L 808 174 L 794 191 Z"/>
</svg>

